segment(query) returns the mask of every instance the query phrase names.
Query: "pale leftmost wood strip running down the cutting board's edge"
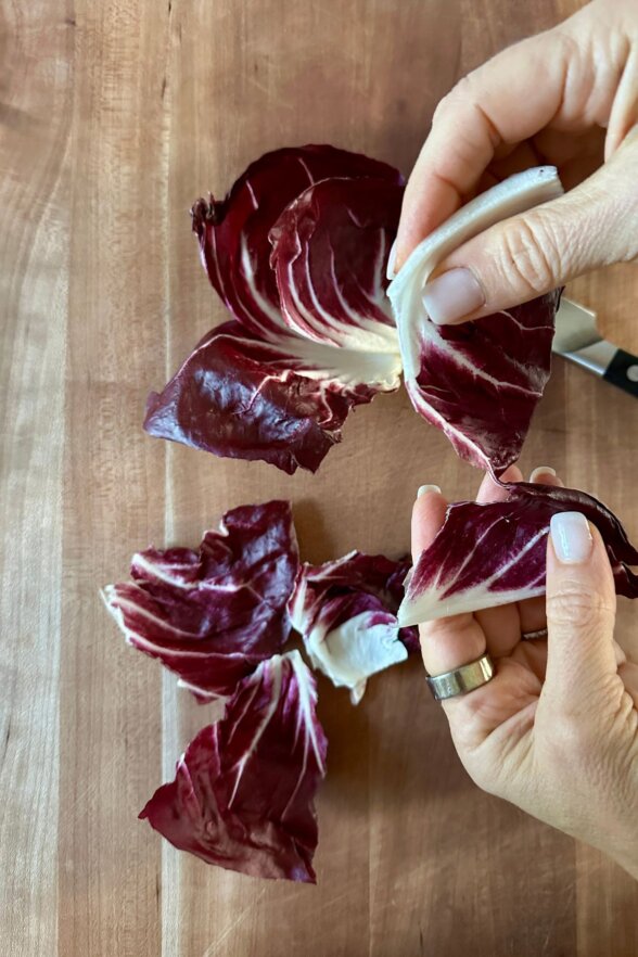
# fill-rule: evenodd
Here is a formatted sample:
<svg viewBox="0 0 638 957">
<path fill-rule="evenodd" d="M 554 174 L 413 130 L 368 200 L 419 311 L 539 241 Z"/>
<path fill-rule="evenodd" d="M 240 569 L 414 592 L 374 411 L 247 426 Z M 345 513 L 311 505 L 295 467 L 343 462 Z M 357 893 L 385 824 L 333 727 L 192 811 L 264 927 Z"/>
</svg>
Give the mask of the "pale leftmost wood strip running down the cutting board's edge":
<svg viewBox="0 0 638 957">
<path fill-rule="evenodd" d="M 50 953 L 59 913 L 60 615 L 72 37 L 0 7 L 0 937 Z"/>
</svg>

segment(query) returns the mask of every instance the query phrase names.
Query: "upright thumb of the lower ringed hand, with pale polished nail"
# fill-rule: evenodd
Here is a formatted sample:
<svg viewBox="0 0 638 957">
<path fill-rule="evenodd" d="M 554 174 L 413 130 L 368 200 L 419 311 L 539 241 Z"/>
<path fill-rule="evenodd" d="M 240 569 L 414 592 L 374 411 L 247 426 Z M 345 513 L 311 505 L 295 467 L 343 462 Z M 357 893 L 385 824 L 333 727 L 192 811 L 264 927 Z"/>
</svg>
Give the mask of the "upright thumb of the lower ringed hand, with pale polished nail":
<svg viewBox="0 0 638 957">
<path fill-rule="evenodd" d="M 579 512 L 551 519 L 547 546 L 544 696 L 562 712 L 589 710 L 616 675 L 616 596 L 607 549 Z"/>
</svg>

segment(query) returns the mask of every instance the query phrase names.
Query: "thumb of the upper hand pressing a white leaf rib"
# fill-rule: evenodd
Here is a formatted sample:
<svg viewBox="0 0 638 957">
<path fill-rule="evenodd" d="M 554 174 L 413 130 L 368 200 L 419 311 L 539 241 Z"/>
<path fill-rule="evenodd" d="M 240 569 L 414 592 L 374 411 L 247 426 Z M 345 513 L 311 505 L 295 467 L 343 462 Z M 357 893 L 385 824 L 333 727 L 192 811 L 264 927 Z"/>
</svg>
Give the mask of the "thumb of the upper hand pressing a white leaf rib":
<svg viewBox="0 0 638 957">
<path fill-rule="evenodd" d="M 438 264 L 423 292 L 433 322 L 454 324 L 526 303 L 638 256 L 638 136 L 578 187 L 506 219 Z"/>
</svg>

